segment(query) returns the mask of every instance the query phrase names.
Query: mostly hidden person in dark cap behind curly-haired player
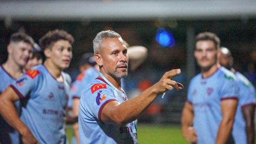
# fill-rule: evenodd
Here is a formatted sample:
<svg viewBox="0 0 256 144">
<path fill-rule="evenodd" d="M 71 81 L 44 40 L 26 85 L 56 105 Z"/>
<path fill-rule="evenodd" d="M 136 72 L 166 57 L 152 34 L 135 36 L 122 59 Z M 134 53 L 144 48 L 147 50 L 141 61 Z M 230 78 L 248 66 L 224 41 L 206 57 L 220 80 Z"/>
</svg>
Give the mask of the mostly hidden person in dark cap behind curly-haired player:
<svg viewBox="0 0 256 144">
<path fill-rule="evenodd" d="M 41 48 L 38 44 L 34 43 L 32 57 L 28 60 L 28 63 L 25 66 L 25 70 L 30 70 L 32 67 L 36 65 L 40 65 L 43 63 L 43 57 L 41 55 Z"/>
</svg>

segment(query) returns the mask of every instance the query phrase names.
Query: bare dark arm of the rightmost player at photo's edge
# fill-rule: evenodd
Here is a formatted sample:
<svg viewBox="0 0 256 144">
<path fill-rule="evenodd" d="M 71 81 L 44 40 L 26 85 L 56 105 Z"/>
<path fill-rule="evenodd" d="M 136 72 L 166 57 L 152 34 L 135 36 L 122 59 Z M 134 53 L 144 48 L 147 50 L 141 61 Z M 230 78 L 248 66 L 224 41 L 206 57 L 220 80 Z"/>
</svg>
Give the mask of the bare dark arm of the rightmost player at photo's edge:
<svg viewBox="0 0 256 144">
<path fill-rule="evenodd" d="M 247 144 L 254 144 L 254 113 L 255 104 L 242 107 L 243 117 L 245 118 Z"/>
</svg>

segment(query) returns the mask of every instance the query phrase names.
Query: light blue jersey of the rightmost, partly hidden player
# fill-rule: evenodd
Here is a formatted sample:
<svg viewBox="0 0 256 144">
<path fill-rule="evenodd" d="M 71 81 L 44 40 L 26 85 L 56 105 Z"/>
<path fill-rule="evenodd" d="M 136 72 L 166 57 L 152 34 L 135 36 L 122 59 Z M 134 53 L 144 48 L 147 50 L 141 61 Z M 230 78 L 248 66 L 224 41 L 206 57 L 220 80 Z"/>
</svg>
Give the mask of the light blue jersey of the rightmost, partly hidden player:
<svg viewBox="0 0 256 144">
<path fill-rule="evenodd" d="M 252 83 L 250 83 L 245 76 L 239 72 L 236 72 L 235 74 L 239 80 L 239 101 L 232 135 L 236 144 L 247 144 L 245 119 L 243 117 L 242 107 L 247 105 L 255 105 L 255 89 Z"/>
</svg>

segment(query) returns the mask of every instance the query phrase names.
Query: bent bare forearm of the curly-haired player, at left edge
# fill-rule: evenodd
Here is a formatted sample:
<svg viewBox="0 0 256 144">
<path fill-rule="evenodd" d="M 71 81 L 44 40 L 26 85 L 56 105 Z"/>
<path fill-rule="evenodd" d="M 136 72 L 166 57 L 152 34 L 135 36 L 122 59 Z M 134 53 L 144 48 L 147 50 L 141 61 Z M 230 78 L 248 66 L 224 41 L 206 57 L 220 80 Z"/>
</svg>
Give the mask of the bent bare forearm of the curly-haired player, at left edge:
<svg viewBox="0 0 256 144">
<path fill-rule="evenodd" d="M 11 127 L 19 131 L 21 135 L 25 135 L 29 131 L 25 124 L 20 120 L 13 102 L 2 95 L 0 96 L 0 114 L 4 120 L 6 120 Z"/>
</svg>

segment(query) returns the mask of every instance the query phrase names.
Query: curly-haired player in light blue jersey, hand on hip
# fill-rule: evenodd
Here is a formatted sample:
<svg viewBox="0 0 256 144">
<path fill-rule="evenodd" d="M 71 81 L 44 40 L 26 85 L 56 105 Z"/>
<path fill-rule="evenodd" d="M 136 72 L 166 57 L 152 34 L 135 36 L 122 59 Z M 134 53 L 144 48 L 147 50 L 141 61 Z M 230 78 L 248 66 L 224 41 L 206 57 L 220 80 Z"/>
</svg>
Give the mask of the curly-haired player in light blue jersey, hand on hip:
<svg viewBox="0 0 256 144">
<path fill-rule="evenodd" d="M 63 30 L 46 33 L 40 40 L 46 61 L 28 70 L 0 96 L 0 114 L 19 131 L 24 144 L 65 144 L 65 107 L 68 100 L 73 37 Z M 19 118 L 13 102 L 22 102 Z"/>
</svg>

